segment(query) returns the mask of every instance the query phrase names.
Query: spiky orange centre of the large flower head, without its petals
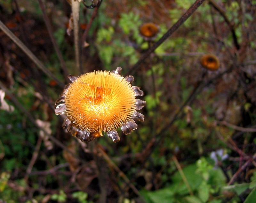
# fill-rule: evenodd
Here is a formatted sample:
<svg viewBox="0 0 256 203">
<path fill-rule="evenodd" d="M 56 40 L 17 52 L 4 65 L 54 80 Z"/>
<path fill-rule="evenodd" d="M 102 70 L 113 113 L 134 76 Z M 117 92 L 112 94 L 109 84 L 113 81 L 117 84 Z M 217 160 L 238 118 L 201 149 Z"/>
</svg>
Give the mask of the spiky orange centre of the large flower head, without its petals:
<svg viewBox="0 0 256 203">
<path fill-rule="evenodd" d="M 136 111 L 132 85 L 108 71 L 94 71 L 77 78 L 65 98 L 66 113 L 90 133 L 107 132 L 124 125 Z"/>
</svg>

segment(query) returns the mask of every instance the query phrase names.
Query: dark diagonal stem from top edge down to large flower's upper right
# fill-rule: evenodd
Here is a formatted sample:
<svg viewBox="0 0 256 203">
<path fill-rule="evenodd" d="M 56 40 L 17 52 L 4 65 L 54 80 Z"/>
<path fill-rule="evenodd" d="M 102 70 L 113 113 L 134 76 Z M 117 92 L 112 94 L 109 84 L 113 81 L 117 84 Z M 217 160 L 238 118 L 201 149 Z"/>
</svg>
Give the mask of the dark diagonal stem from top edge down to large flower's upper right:
<svg viewBox="0 0 256 203">
<path fill-rule="evenodd" d="M 126 75 L 130 75 L 133 71 L 137 70 L 142 62 L 156 50 L 168 37 L 176 31 L 180 25 L 182 25 L 195 11 L 196 9 L 204 2 L 204 0 L 196 0 L 195 3 L 186 11 L 186 13 L 174 24 L 172 27 L 155 43 L 148 51 L 140 58 L 140 60 L 128 70 Z"/>
</svg>

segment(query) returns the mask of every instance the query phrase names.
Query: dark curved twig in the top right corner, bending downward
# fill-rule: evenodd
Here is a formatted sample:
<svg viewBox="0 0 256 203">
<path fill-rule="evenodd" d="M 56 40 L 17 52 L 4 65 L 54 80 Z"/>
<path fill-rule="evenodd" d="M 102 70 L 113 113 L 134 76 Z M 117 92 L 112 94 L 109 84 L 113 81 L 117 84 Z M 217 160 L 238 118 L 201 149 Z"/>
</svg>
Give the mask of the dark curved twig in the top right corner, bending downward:
<svg viewBox="0 0 256 203">
<path fill-rule="evenodd" d="M 238 44 L 238 40 L 237 40 L 237 37 L 236 37 L 234 23 L 231 23 L 229 21 L 228 17 L 225 14 L 225 11 L 223 11 L 223 9 L 221 9 L 220 6 L 214 0 L 209 0 L 209 4 L 212 5 L 213 8 L 216 9 L 216 11 L 218 11 L 220 13 L 220 15 L 224 18 L 225 22 L 228 24 L 228 27 L 229 27 L 229 29 L 232 33 L 232 37 L 233 37 L 235 47 L 236 47 L 237 50 L 239 50 L 240 45 Z"/>
</svg>

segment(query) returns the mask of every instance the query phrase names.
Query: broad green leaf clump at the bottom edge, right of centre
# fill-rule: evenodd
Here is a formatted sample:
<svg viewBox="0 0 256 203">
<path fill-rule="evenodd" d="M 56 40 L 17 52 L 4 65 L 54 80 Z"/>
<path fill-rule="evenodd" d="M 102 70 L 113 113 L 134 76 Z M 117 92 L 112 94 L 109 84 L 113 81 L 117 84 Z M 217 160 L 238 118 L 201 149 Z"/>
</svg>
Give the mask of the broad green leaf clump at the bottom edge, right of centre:
<svg viewBox="0 0 256 203">
<path fill-rule="evenodd" d="M 186 181 L 194 195 L 189 195 L 189 190 L 180 173 L 177 171 L 172 176 L 172 184 L 154 192 L 142 191 L 148 199 L 148 203 L 161 202 L 186 202 L 186 203 L 206 203 L 221 202 L 218 199 L 211 199 L 210 195 L 220 192 L 225 183 L 225 176 L 220 168 L 214 168 L 204 157 L 182 169 Z M 217 197 L 216 197 L 217 198 Z"/>
</svg>

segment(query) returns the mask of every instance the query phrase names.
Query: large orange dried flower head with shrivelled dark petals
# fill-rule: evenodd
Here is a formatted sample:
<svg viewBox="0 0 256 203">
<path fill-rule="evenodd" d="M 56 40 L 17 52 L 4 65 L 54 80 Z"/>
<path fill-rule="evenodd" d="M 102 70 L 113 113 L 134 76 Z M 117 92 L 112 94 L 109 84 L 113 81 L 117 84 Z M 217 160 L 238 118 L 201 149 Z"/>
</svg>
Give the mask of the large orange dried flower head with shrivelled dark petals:
<svg viewBox="0 0 256 203">
<path fill-rule="evenodd" d="M 94 71 L 80 77 L 69 76 L 71 84 L 65 86 L 55 104 L 55 114 L 66 114 L 63 127 L 84 142 L 103 136 L 106 132 L 114 142 L 120 138 L 116 129 L 124 134 L 137 129 L 136 121 L 144 121 L 137 112 L 146 102 L 136 99 L 143 91 L 132 86 L 133 76 L 120 76 L 115 71 Z"/>
</svg>

